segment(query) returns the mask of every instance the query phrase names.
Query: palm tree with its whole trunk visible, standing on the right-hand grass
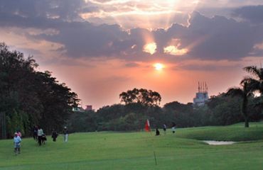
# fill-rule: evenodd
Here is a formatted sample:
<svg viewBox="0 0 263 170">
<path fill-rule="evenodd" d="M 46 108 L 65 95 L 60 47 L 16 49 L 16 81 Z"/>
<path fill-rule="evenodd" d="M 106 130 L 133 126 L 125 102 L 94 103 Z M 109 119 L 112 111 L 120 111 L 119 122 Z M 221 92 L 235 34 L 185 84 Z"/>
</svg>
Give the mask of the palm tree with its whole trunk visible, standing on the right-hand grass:
<svg viewBox="0 0 263 170">
<path fill-rule="evenodd" d="M 252 95 L 250 86 L 247 81 L 241 81 L 242 88 L 234 87 L 227 90 L 227 96 L 240 96 L 242 98 L 242 114 L 245 119 L 245 128 L 249 128 L 249 118 L 247 114 L 247 103 L 249 96 Z"/>
</svg>

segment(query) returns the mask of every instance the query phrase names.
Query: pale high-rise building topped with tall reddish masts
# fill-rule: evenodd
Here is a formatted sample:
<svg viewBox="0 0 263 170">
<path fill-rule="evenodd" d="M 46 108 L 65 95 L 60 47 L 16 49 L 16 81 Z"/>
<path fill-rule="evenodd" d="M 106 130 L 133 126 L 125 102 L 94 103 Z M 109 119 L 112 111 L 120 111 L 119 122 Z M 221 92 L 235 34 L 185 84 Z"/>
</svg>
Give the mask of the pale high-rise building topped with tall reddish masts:
<svg viewBox="0 0 263 170">
<path fill-rule="evenodd" d="M 193 105 L 203 106 L 205 105 L 205 101 L 208 101 L 208 86 L 206 86 L 206 82 L 198 82 L 198 93 L 193 98 Z"/>
</svg>

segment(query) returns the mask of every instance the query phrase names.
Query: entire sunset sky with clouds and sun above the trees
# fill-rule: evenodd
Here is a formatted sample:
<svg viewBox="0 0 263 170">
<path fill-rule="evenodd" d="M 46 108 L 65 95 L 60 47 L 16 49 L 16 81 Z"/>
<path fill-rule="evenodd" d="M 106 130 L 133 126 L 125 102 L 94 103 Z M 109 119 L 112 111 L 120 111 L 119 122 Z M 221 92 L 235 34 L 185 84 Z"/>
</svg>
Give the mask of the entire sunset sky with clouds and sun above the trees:
<svg viewBox="0 0 263 170">
<path fill-rule="evenodd" d="M 82 106 L 119 103 L 129 89 L 161 106 L 239 86 L 263 61 L 262 0 L 0 0 L 0 42 L 33 56 Z M 156 67 L 156 63 L 157 64 Z"/>
</svg>

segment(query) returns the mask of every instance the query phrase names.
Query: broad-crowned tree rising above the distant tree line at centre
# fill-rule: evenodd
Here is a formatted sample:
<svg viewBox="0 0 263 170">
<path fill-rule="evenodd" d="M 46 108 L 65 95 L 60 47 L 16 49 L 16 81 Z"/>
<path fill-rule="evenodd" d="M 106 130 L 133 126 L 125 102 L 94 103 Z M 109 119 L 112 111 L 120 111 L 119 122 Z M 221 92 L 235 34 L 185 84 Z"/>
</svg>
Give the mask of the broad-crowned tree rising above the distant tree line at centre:
<svg viewBox="0 0 263 170">
<path fill-rule="evenodd" d="M 161 95 L 156 91 L 147 89 L 136 89 L 128 90 L 119 94 L 121 102 L 125 104 L 129 103 L 141 103 L 145 106 L 158 106 L 161 102 Z"/>
</svg>

